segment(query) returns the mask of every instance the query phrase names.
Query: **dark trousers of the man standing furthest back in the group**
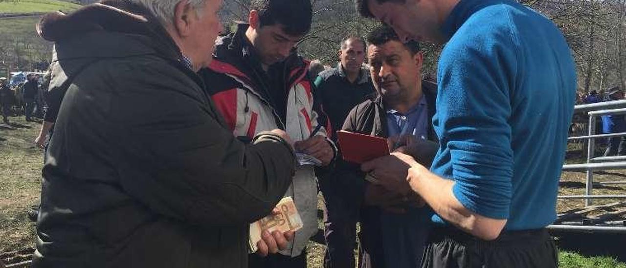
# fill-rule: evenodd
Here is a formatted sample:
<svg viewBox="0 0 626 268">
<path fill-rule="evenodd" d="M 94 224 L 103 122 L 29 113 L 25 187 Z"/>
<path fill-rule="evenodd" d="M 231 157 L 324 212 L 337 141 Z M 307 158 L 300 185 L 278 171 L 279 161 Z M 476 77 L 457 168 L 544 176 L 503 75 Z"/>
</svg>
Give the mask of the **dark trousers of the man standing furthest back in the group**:
<svg viewBox="0 0 626 268">
<path fill-rule="evenodd" d="M 329 175 L 320 180 L 326 217 L 324 220 L 324 239 L 326 253 L 325 268 L 354 267 L 354 249 L 356 249 L 356 224 L 359 221 L 359 205 L 346 195 L 345 187 Z"/>
</svg>

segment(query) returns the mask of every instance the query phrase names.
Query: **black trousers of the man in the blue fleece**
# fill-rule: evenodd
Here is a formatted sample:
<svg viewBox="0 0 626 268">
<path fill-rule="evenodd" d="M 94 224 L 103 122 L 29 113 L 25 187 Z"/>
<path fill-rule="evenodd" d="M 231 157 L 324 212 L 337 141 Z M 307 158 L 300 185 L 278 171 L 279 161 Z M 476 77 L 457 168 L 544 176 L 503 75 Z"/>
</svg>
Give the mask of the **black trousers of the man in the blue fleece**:
<svg viewBox="0 0 626 268">
<path fill-rule="evenodd" d="M 558 267 L 558 251 L 546 229 L 510 231 L 498 239 L 477 239 L 456 228 L 434 229 L 422 268 Z"/>
</svg>

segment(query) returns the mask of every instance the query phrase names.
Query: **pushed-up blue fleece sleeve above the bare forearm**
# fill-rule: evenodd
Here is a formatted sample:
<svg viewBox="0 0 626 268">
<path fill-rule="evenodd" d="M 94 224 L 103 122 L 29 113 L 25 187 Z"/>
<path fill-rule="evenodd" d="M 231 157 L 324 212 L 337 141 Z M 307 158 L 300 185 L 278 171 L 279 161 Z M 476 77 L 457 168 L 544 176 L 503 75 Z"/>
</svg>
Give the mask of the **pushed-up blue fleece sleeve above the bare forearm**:
<svg viewBox="0 0 626 268">
<path fill-rule="evenodd" d="M 476 214 L 507 219 L 513 178 L 510 88 L 516 56 L 500 46 L 448 53 L 439 66 L 436 124 L 449 153 L 454 197 Z"/>
</svg>

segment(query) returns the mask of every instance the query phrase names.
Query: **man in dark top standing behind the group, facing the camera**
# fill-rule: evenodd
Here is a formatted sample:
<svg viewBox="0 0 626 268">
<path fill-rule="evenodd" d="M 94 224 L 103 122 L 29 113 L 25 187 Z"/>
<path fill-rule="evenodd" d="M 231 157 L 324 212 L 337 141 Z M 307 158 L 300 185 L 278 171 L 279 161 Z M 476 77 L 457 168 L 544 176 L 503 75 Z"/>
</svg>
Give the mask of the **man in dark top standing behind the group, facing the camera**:
<svg viewBox="0 0 626 268">
<path fill-rule="evenodd" d="M 363 68 L 366 45 L 362 38 L 348 36 L 341 41 L 339 63 L 323 71 L 315 85 L 317 97 L 331 120 L 332 141 L 337 142 L 336 131 L 341 130 L 350 110 L 376 94 L 369 70 Z M 341 155 L 341 152 L 339 153 Z M 320 169 L 317 174 L 326 204 L 325 267 L 354 267 L 356 223 L 359 218 L 362 193 L 353 189 L 352 178 L 344 177 L 346 163 L 337 158 L 336 168 Z"/>
</svg>

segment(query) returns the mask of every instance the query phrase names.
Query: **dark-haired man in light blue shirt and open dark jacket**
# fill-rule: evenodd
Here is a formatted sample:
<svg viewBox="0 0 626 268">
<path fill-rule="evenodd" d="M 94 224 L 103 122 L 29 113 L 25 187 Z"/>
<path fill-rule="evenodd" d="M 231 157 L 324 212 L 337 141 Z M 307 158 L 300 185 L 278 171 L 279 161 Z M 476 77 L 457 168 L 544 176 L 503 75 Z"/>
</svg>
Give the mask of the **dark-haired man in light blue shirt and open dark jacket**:
<svg viewBox="0 0 626 268">
<path fill-rule="evenodd" d="M 436 85 L 421 80 L 419 43 L 401 42 L 386 26 L 369 33 L 367 43 L 370 74 L 379 96 L 354 107 L 343 129 L 387 138 L 390 151 L 410 153 L 430 165 L 428 160 L 437 149 L 431 124 Z M 423 144 L 421 152 L 407 152 L 417 143 Z M 429 210 L 423 202 L 366 182 L 357 165 L 346 166 L 342 173 L 362 197 L 361 267 L 418 267 L 429 233 Z"/>
</svg>

